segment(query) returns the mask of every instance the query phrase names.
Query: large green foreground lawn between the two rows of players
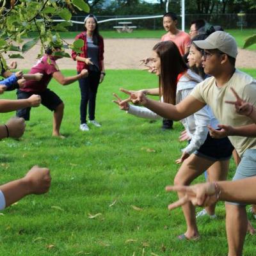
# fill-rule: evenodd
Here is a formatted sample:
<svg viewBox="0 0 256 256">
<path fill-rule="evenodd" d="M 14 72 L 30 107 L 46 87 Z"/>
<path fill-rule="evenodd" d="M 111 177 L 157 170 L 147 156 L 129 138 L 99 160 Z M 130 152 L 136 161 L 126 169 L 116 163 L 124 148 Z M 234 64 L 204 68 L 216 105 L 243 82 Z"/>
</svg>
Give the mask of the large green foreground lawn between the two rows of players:
<svg viewBox="0 0 256 256">
<path fill-rule="evenodd" d="M 255 70 L 247 71 L 256 77 Z M 28 196 L 1 212 L 1 255 L 227 255 L 222 202 L 217 220 L 198 221 L 202 239 L 177 241 L 186 226 L 181 209 L 167 211 L 177 196 L 164 186 L 179 168 L 182 126 L 176 122 L 173 131 L 161 131 L 161 121 L 127 115 L 111 102 L 121 86 L 156 85 L 157 77 L 147 72 L 107 70 L 97 95 L 102 127 L 81 132 L 78 83 L 62 87 L 52 81 L 49 87 L 65 102 L 61 131 L 67 138 L 51 137 L 52 114 L 40 106 L 32 109 L 21 140 L 1 141 L 1 183 L 34 164 L 48 166 L 52 174 L 49 193 Z M 15 99 L 15 92 L 1 97 Z M 10 116 L 1 114 L 1 120 Z M 232 162 L 229 179 L 234 170 Z M 255 237 L 246 237 L 244 255 L 255 255 Z"/>
</svg>

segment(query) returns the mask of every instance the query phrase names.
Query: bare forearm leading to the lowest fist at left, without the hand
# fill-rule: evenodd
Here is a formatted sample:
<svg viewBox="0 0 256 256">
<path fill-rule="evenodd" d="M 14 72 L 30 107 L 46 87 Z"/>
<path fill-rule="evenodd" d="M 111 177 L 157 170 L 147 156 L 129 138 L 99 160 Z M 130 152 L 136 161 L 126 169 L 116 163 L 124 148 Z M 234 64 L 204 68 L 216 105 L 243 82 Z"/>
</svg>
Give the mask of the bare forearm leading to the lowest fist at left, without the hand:
<svg viewBox="0 0 256 256">
<path fill-rule="evenodd" d="M 13 180 L 0 186 L 5 198 L 5 207 L 29 194 L 29 186 L 24 179 Z"/>
</svg>

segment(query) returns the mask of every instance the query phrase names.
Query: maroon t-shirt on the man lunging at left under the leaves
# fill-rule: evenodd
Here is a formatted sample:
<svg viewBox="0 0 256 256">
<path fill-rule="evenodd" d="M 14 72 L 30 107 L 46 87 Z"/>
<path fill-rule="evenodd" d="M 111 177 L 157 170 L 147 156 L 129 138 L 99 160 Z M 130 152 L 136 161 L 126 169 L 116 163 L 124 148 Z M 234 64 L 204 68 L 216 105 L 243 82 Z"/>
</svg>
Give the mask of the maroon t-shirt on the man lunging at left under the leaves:
<svg viewBox="0 0 256 256">
<path fill-rule="evenodd" d="M 44 92 L 52 79 L 52 74 L 58 71 L 59 68 L 54 58 L 51 55 L 45 54 L 29 71 L 29 74 L 44 74 L 42 79 L 40 81 L 26 81 L 26 85 L 20 90 L 33 93 Z"/>
</svg>

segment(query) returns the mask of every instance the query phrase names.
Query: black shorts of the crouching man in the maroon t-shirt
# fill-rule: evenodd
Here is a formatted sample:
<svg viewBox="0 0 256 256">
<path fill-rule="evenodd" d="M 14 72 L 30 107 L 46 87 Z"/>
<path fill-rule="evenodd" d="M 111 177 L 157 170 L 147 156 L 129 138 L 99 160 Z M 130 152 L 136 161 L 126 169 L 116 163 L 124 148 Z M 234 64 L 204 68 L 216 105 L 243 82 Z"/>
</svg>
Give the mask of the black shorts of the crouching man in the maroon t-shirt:
<svg viewBox="0 0 256 256">
<path fill-rule="evenodd" d="M 40 95 L 42 99 L 42 105 L 44 105 L 51 111 L 54 111 L 61 103 L 63 103 L 60 97 L 49 89 L 46 89 L 44 92 L 41 93 L 32 93 L 17 90 L 17 99 L 28 99 L 33 94 Z M 19 109 L 16 112 L 16 116 L 23 117 L 25 120 L 29 120 L 30 109 L 31 108 Z"/>
</svg>

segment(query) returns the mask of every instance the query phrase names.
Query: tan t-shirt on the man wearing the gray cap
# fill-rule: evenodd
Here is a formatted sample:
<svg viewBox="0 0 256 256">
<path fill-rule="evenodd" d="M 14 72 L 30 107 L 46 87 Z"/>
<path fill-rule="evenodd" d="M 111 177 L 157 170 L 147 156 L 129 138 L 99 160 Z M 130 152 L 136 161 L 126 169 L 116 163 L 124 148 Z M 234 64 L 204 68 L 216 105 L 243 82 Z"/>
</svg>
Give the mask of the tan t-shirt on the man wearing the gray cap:
<svg viewBox="0 0 256 256">
<path fill-rule="evenodd" d="M 223 87 L 217 87 L 215 78 L 209 77 L 202 83 L 197 84 L 190 95 L 208 104 L 220 124 L 234 127 L 253 124 L 252 119 L 248 116 L 237 114 L 234 105 L 225 103 L 225 100 L 236 100 L 230 90 L 231 87 L 236 90 L 242 99 L 256 106 L 256 80 L 240 70 L 236 70 Z M 240 156 L 243 155 L 246 149 L 256 148 L 256 138 L 241 136 L 229 136 L 228 138 Z"/>
</svg>

